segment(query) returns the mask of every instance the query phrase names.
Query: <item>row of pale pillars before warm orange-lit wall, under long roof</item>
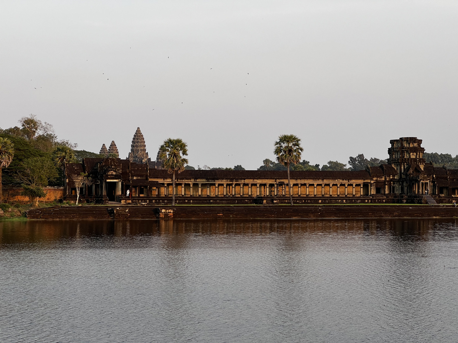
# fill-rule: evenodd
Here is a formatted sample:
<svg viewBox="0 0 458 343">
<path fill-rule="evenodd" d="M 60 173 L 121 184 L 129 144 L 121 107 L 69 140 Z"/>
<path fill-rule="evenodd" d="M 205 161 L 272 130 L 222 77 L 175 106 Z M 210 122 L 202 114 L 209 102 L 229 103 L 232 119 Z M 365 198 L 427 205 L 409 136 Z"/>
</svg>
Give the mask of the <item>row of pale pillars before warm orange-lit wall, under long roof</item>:
<svg viewBox="0 0 458 343">
<path fill-rule="evenodd" d="M 158 196 L 171 196 L 172 183 L 161 182 L 164 187 Z M 367 184 L 371 195 L 370 182 L 304 182 L 292 183 L 294 197 L 342 197 L 363 195 L 363 185 Z M 221 187 L 222 186 L 222 187 Z M 256 196 L 289 196 L 288 183 L 285 182 L 177 182 L 175 196 L 199 197 L 256 197 Z M 188 189 L 189 187 L 189 189 Z M 222 189 L 221 189 L 222 188 Z"/>
</svg>

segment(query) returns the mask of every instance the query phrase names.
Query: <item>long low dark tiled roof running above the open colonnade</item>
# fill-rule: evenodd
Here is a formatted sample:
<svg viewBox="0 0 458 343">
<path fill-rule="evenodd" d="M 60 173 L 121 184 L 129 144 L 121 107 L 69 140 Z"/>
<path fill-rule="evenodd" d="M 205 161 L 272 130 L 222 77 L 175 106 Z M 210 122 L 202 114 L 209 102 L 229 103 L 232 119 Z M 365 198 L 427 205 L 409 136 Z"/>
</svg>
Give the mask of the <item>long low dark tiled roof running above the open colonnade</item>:
<svg viewBox="0 0 458 343">
<path fill-rule="evenodd" d="M 292 180 L 369 180 L 368 171 L 291 171 Z M 172 174 L 164 169 L 150 169 L 152 179 L 170 179 Z M 288 178 L 286 171 L 262 170 L 185 170 L 176 174 L 176 179 L 282 179 Z"/>
</svg>

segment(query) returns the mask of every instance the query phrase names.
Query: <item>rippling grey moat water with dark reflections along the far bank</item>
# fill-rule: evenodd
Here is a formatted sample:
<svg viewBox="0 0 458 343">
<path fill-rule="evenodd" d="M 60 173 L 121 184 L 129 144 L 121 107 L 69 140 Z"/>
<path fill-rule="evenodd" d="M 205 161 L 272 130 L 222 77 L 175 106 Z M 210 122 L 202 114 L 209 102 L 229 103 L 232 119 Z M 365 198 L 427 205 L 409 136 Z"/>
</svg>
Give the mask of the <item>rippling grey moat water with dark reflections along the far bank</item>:
<svg viewBox="0 0 458 343">
<path fill-rule="evenodd" d="M 457 220 L 0 222 L 0 342 L 456 342 Z"/>
</svg>

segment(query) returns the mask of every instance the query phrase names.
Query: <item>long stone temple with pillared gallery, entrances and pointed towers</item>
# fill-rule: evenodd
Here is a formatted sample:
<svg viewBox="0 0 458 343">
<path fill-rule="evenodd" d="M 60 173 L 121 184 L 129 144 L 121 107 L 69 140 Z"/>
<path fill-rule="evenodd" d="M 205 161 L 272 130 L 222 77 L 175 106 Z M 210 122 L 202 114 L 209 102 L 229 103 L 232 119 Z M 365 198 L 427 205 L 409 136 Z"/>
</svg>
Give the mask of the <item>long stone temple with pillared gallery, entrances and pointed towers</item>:
<svg viewBox="0 0 458 343">
<path fill-rule="evenodd" d="M 423 196 L 431 195 L 440 202 L 451 202 L 458 196 L 458 170 L 427 163 L 421 143 L 416 137 L 393 139 L 388 163 L 365 170 L 291 171 L 292 196 L 296 202 L 392 203 L 421 202 Z M 100 153 L 107 157 L 66 164 L 65 200 L 76 199 L 74 180 L 82 172 L 92 180 L 82 187 L 83 201 L 154 204 L 172 195 L 172 175 L 162 169 L 158 158 L 151 161 L 148 157 L 140 128 L 126 159 L 114 157 L 119 156 L 114 141 L 108 150 L 103 145 Z M 260 198 L 264 203 L 282 202 L 289 197 L 288 177 L 286 171 L 185 170 L 176 175 L 175 195 L 188 197 L 186 203 L 202 203 L 205 198 L 218 202 L 222 197 L 234 203 L 240 203 L 240 198 L 245 203 L 250 198 L 255 203 Z"/>
</svg>

